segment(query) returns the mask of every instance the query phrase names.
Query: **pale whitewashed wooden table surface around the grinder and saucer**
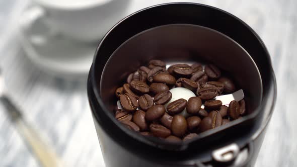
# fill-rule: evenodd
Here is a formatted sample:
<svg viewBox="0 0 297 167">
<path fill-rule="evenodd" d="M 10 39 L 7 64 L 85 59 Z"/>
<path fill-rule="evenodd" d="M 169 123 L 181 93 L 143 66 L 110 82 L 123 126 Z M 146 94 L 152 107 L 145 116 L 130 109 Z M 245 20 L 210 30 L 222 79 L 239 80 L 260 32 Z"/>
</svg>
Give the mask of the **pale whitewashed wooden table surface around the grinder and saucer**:
<svg viewBox="0 0 297 167">
<path fill-rule="evenodd" d="M 140 1 L 131 11 L 163 2 Z M 297 166 L 297 1 L 191 1 L 226 10 L 263 39 L 273 62 L 278 98 L 256 166 Z M 9 94 L 67 166 L 104 166 L 88 105 L 86 82 L 49 75 L 32 64 L 17 36 L 28 1 L 0 1 L 0 66 Z M 232 28 L 232 27 L 231 27 Z M 95 50 L 95 48 L 94 48 Z M 265 89 L 265 88 L 264 88 Z M 0 104 L 0 166 L 39 166 Z"/>
</svg>

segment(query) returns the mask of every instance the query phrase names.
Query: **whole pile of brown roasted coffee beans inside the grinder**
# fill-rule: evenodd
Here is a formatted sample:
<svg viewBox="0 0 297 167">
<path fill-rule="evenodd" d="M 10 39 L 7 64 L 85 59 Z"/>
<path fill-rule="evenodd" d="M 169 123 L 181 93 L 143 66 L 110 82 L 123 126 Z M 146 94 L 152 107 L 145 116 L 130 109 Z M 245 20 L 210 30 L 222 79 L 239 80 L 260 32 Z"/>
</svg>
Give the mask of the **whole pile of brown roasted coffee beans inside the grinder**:
<svg viewBox="0 0 297 167">
<path fill-rule="evenodd" d="M 172 99 L 171 89 L 184 87 L 196 94 L 190 99 Z M 166 69 L 161 60 L 151 60 L 128 75 L 126 84 L 115 92 L 123 109 L 115 118 L 125 127 L 144 136 L 183 141 L 198 133 L 229 123 L 245 115 L 245 101 L 232 101 L 229 107 L 214 100 L 236 91 L 233 81 L 221 76 L 213 64 L 174 64 Z M 204 109 L 201 108 L 204 104 Z M 186 109 L 187 117 L 181 114 Z"/>
</svg>

